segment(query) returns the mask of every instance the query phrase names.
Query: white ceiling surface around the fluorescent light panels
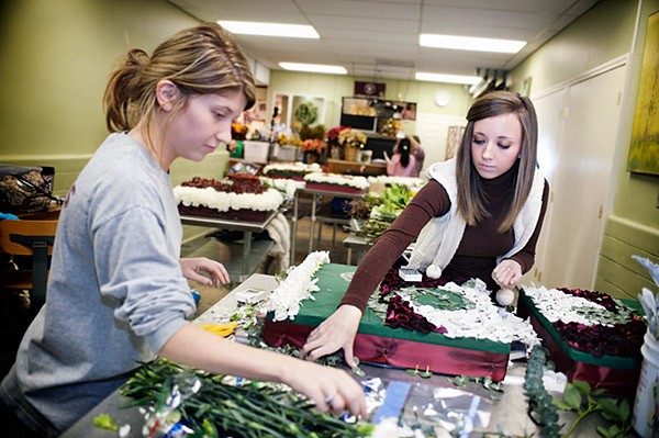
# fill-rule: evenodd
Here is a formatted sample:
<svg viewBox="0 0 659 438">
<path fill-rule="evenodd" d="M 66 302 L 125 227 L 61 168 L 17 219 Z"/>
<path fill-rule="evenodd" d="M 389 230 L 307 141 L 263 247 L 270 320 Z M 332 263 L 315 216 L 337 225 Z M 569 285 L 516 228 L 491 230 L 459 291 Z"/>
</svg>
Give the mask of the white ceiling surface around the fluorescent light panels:
<svg viewBox="0 0 659 438">
<path fill-rule="evenodd" d="M 311 24 L 320 40 L 235 35 L 270 69 L 280 61 L 342 65 L 348 75 L 413 79 L 414 72 L 511 70 L 599 0 L 168 0 L 201 21 Z M 528 44 L 517 54 L 418 46 L 420 33 Z M 482 76 L 482 74 L 481 74 Z"/>
</svg>

